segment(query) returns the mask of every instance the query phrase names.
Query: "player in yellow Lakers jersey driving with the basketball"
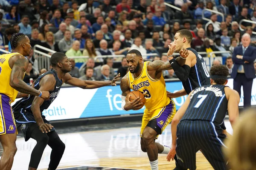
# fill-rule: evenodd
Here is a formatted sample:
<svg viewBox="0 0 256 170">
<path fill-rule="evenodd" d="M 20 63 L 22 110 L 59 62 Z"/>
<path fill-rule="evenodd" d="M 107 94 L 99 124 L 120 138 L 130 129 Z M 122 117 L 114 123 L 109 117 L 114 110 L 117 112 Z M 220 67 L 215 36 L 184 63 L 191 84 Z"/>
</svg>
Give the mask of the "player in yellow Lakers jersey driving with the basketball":
<svg viewBox="0 0 256 170">
<path fill-rule="evenodd" d="M 187 50 L 182 50 L 180 54 L 183 59 L 178 57 L 177 62 L 184 65 L 189 53 Z M 126 59 L 130 71 L 122 78 L 120 84 L 122 108 L 125 111 L 140 109 L 139 98 L 130 102 L 130 97 L 126 97 L 131 89 L 144 94 L 146 102 L 140 131 L 140 145 L 141 150 L 148 153 L 151 169 L 158 170 L 158 153 L 168 154 L 170 148 L 155 142 L 155 139 L 172 121 L 176 113 L 175 103 L 167 96 L 162 74 L 163 70 L 172 68 L 169 61 L 156 60 L 143 63 L 142 55 L 138 50 L 129 51 Z"/>
</svg>

